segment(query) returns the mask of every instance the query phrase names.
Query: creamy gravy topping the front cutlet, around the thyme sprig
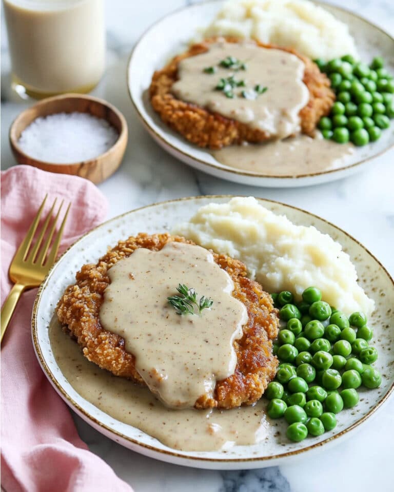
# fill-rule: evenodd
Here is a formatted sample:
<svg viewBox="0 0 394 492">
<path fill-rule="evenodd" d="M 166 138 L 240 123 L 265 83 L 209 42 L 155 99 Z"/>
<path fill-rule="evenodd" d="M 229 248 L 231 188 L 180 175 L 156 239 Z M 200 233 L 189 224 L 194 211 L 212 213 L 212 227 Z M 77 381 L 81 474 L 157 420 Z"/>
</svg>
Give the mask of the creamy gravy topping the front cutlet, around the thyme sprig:
<svg viewBox="0 0 394 492">
<path fill-rule="evenodd" d="M 216 381 L 237 365 L 233 342 L 248 315 L 232 297 L 230 276 L 200 246 L 170 242 L 161 251 L 140 248 L 108 270 L 111 283 L 100 310 L 103 327 L 125 340 L 150 390 L 169 407 L 192 407 L 212 396 Z M 167 297 L 178 284 L 213 300 L 201 314 L 176 314 Z M 196 310 L 198 312 L 198 310 Z"/>
</svg>

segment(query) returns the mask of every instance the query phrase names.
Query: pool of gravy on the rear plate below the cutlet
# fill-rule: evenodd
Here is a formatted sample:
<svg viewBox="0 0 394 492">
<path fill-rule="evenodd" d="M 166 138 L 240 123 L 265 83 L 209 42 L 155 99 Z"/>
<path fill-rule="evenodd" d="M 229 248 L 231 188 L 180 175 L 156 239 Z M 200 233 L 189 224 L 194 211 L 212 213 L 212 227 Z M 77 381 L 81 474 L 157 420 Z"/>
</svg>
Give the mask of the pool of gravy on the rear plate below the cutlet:
<svg viewBox="0 0 394 492">
<path fill-rule="evenodd" d="M 212 151 L 213 157 L 225 166 L 268 176 L 299 176 L 338 169 L 348 165 L 353 153 L 351 144 L 307 135 Z"/>
</svg>

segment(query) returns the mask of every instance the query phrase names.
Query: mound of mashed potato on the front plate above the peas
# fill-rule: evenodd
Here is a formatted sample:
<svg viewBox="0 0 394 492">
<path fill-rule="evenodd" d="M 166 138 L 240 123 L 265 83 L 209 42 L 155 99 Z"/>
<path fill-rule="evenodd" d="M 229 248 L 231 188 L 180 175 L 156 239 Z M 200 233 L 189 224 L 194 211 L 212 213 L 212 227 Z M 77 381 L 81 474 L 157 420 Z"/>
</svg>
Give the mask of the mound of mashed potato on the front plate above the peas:
<svg viewBox="0 0 394 492">
<path fill-rule="evenodd" d="M 296 226 L 275 215 L 253 197 L 210 203 L 172 232 L 241 259 L 268 292 L 289 290 L 301 298 L 313 285 L 321 289 L 323 300 L 347 315 L 364 311 L 369 316 L 375 309 L 338 242 L 314 227 Z"/>
</svg>

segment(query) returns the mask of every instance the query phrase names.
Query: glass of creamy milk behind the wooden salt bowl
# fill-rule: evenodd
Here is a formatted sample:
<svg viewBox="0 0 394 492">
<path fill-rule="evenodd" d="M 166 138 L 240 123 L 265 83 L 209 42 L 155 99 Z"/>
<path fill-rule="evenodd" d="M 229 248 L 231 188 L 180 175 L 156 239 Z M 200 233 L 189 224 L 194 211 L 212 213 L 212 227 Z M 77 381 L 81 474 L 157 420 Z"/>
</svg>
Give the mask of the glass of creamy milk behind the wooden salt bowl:
<svg viewBox="0 0 394 492">
<path fill-rule="evenodd" d="M 12 84 L 35 98 L 85 93 L 105 64 L 103 0 L 3 0 Z"/>
</svg>

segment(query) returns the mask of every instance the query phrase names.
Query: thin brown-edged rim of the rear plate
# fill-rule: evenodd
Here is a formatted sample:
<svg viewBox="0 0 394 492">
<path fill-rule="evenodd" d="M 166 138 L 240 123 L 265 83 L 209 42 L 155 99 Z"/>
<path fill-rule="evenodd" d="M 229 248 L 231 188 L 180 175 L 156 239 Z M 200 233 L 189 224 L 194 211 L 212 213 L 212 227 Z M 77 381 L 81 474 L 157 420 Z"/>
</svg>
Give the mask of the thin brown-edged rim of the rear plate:
<svg viewBox="0 0 394 492">
<path fill-rule="evenodd" d="M 218 165 L 216 165 L 214 163 L 207 162 L 206 160 L 202 160 L 199 157 L 195 157 L 195 156 L 192 156 L 192 155 L 184 152 L 182 149 L 180 149 L 179 147 L 173 145 L 171 142 L 167 141 L 164 137 L 162 137 L 162 135 L 160 135 L 159 133 L 157 133 L 157 131 L 154 129 L 154 127 L 151 126 L 146 121 L 146 119 L 144 118 L 144 115 L 140 112 L 140 110 L 139 110 L 139 108 L 137 106 L 136 101 L 134 101 L 134 98 L 133 98 L 133 95 L 132 95 L 132 91 L 131 91 L 131 88 L 130 88 L 130 85 L 131 85 L 131 81 L 130 81 L 130 79 L 131 79 L 131 77 L 130 77 L 131 70 L 130 69 L 131 69 L 131 64 L 132 64 L 132 61 L 133 61 L 133 57 L 134 57 L 135 51 L 139 47 L 139 45 L 142 42 L 143 38 L 149 33 L 149 31 L 151 29 L 153 29 L 157 24 L 161 23 L 167 17 L 170 17 L 171 15 L 173 15 L 175 13 L 182 12 L 183 10 L 188 10 L 190 8 L 194 8 L 196 6 L 198 6 L 198 8 L 199 8 L 199 7 L 203 7 L 206 4 L 220 3 L 220 2 L 223 2 L 223 1 L 224 0 L 204 0 L 202 3 L 199 3 L 199 4 L 189 4 L 189 5 L 186 5 L 184 7 L 180 7 L 178 9 L 172 10 L 171 12 L 169 12 L 169 13 L 163 15 L 162 17 L 160 17 L 160 19 L 157 19 L 147 29 L 145 29 L 145 31 L 138 38 L 138 40 L 135 43 L 133 49 L 131 50 L 131 53 L 129 55 L 128 62 L 127 62 L 127 69 L 126 69 L 127 92 L 129 94 L 129 97 L 130 97 L 131 102 L 133 104 L 134 110 L 136 111 L 136 114 L 139 117 L 140 121 L 142 122 L 144 128 L 148 131 L 148 133 L 151 134 L 151 136 L 154 139 L 156 139 L 157 142 L 159 142 L 159 144 L 162 147 L 164 147 L 164 148 L 166 146 L 167 147 L 170 147 L 171 150 L 172 150 L 172 155 L 177 154 L 177 153 L 178 154 L 181 154 L 182 157 L 183 157 L 183 159 L 181 157 L 179 157 L 179 159 L 182 160 L 184 163 L 186 163 L 185 160 L 184 160 L 185 158 L 186 159 L 192 159 L 192 160 L 194 160 L 194 162 L 198 162 L 199 165 L 208 166 L 208 167 L 212 168 L 213 170 L 216 170 L 216 171 L 219 171 L 219 172 L 230 173 L 230 175 L 235 175 L 235 176 L 245 176 L 246 178 L 261 178 L 261 179 L 264 179 L 264 180 L 265 179 L 268 179 L 268 180 L 271 180 L 271 181 L 278 180 L 278 179 L 279 180 L 286 180 L 286 179 L 287 180 L 289 180 L 289 179 L 290 180 L 298 180 L 298 179 L 305 179 L 305 178 L 321 177 L 321 176 L 325 176 L 325 175 L 330 175 L 332 173 L 339 174 L 341 172 L 347 172 L 347 171 L 348 172 L 351 172 L 357 166 L 362 166 L 363 164 L 365 164 L 365 163 L 367 163 L 369 161 L 372 161 L 373 159 L 376 159 L 376 158 L 382 156 L 383 154 L 385 154 L 386 152 L 390 151 L 391 149 L 394 149 L 394 141 L 393 141 L 392 144 L 390 144 L 388 147 L 386 147 L 385 149 L 381 150 L 377 154 L 375 154 L 373 156 L 370 156 L 370 157 L 363 158 L 363 159 L 359 160 L 358 162 L 353 162 L 353 164 L 351 164 L 350 166 L 346 166 L 346 167 L 339 168 L 339 169 L 329 169 L 327 171 L 319 171 L 319 172 L 315 172 L 315 173 L 299 174 L 297 176 L 293 176 L 291 174 L 277 176 L 277 175 L 272 175 L 272 174 L 258 174 L 258 173 L 254 173 L 254 172 L 251 172 L 251 171 L 245 172 L 245 171 L 237 170 L 235 168 L 234 169 L 232 169 L 232 168 L 228 168 L 228 169 L 227 168 L 223 168 L 223 167 L 218 166 Z M 394 35 L 391 35 L 389 32 L 387 32 L 385 29 L 381 28 L 377 24 L 375 24 L 373 22 L 370 22 L 370 20 L 366 19 L 362 15 L 359 15 L 358 13 L 353 12 L 350 9 L 346 9 L 346 8 L 340 7 L 339 5 L 336 5 L 336 4 L 327 4 L 326 2 L 323 2 L 323 1 L 320 1 L 320 0 L 310 0 L 310 1 L 312 3 L 314 3 L 314 4 L 317 4 L 319 7 L 323 7 L 323 8 L 326 7 L 326 6 L 332 7 L 334 9 L 337 9 L 337 10 L 340 10 L 342 12 L 345 12 L 346 14 L 352 15 L 352 16 L 360 19 L 360 20 L 363 20 L 369 26 L 377 29 L 382 34 L 386 35 L 391 40 L 391 42 L 393 44 L 393 47 L 394 47 Z"/>
</svg>

